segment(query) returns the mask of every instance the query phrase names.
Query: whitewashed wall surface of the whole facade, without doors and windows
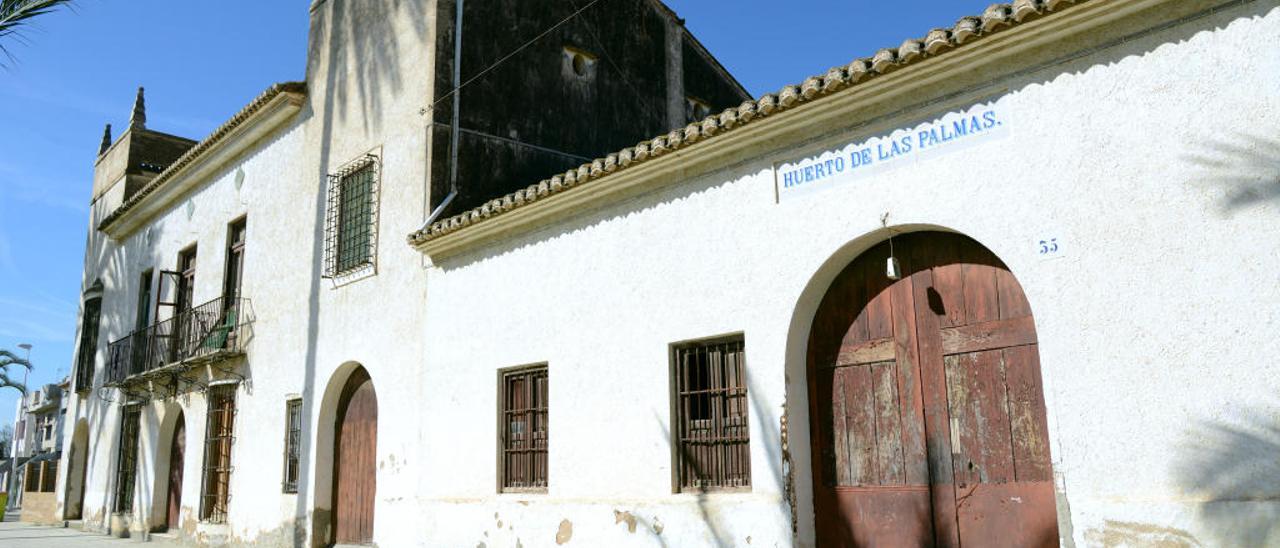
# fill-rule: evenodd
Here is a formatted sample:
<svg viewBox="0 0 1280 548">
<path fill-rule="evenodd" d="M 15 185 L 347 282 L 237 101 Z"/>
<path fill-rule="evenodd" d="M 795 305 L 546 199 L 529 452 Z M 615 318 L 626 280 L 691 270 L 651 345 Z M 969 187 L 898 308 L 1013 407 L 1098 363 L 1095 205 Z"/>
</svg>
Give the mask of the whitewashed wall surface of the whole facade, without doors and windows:
<svg viewBox="0 0 1280 548">
<path fill-rule="evenodd" d="M 134 533 L 163 512 L 165 429 L 180 406 L 188 540 L 323 535 L 310 524 L 324 521 L 316 506 L 328 508 L 324 433 L 335 391 L 361 364 L 379 397 L 380 545 L 548 545 L 557 535 L 575 545 L 790 545 L 785 408 L 806 544 L 808 324 L 835 274 L 883 239 L 888 213 L 900 230 L 974 237 L 1023 283 L 1041 337 L 1064 534 L 1085 545 L 1280 542 L 1270 525 L 1280 485 L 1268 479 L 1280 474 L 1257 458 L 1280 447 L 1271 357 L 1280 350 L 1271 335 L 1280 106 L 1268 100 L 1280 96 L 1280 58 L 1256 52 L 1276 38 L 1275 3 L 1247 3 L 988 82 L 946 108 L 744 157 L 430 269 L 402 241 L 424 215 L 425 122 L 416 117 L 430 96 L 415 95 L 429 78 L 407 68 L 426 67 L 429 52 L 402 47 L 396 86 L 364 102 L 326 101 L 314 87 L 294 124 L 175 204 L 150 239 L 142 230 L 113 243 L 90 230 L 84 284 L 100 277 L 106 286 L 105 347 L 133 326 L 138 274 L 173 268 L 192 242 L 196 301 L 215 298 L 227 223 L 248 215 L 244 294 L 256 321 L 242 364 L 250 382 L 237 393 L 228 525 L 187 524 L 198 508 L 206 406 L 191 394 L 143 414 Z M 316 79 L 330 73 L 325 63 L 310 69 L 316 86 L 360 85 Z M 979 101 L 1007 117 L 1009 137 L 774 200 L 774 161 Z M 324 174 L 379 146 L 378 273 L 333 284 L 319 277 Z M 1038 256 L 1033 242 L 1043 238 L 1059 238 L 1061 257 Z M 754 488 L 672 494 L 668 346 L 726 333 L 746 342 Z M 550 370 L 552 485 L 541 496 L 495 494 L 497 370 L 531 362 Z M 312 433 L 297 496 L 280 493 L 292 396 L 303 396 Z M 119 406 L 95 393 L 74 398 L 69 416 L 90 426 L 86 522 L 106 528 Z M 68 444 L 74 431 L 65 429 Z M 1206 469 L 1222 483 L 1202 480 Z M 1217 499 L 1253 502 L 1208 502 Z M 301 531 L 294 517 L 307 520 Z"/>
</svg>

